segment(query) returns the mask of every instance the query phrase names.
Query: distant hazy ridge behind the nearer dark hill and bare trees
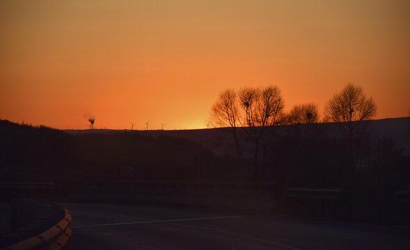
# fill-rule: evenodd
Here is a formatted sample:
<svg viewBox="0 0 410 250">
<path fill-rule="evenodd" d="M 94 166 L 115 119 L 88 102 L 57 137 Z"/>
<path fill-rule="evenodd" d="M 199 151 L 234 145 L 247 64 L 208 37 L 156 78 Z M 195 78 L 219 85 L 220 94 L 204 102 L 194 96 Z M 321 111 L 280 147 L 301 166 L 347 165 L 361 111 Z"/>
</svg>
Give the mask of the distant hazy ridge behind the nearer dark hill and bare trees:
<svg viewBox="0 0 410 250">
<path fill-rule="evenodd" d="M 403 149 L 404 155 L 410 156 L 410 117 L 378 119 L 363 122 L 368 135 L 371 135 L 372 140 L 389 139 L 394 144 Z M 318 123 L 310 124 L 310 131 L 317 131 L 322 136 L 328 138 L 337 138 L 337 126 L 332 123 Z M 245 147 L 244 153 L 251 154 L 251 145 L 246 138 L 244 130 L 246 128 L 238 128 L 241 134 L 241 143 Z M 285 135 L 287 133 L 302 133 L 306 130 L 306 125 L 285 125 L 278 126 L 276 132 L 278 135 Z M 86 135 L 90 134 L 90 130 L 65 130 L 71 135 Z M 118 133 L 139 133 L 139 135 L 146 135 L 150 137 L 158 137 L 160 135 L 171 136 L 175 138 L 186 138 L 188 140 L 198 142 L 206 149 L 216 153 L 219 156 L 235 157 L 235 145 L 232 142 L 232 136 L 227 128 L 210 128 L 210 129 L 186 129 L 186 130 L 155 130 L 155 131 L 127 131 L 127 130 L 110 130 L 97 129 L 94 134 L 110 134 Z M 249 156 L 248 156 L 249 157 Z"/>
</svg>

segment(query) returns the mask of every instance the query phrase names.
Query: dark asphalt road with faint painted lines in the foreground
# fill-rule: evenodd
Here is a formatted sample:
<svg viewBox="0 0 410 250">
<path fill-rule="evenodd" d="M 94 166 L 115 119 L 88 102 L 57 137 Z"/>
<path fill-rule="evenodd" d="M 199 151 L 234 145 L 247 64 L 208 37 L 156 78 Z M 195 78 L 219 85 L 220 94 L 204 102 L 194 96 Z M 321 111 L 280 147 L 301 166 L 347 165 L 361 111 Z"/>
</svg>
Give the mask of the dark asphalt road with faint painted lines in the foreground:
<svg viewBox="0 0 410 250">
<path fill-rule="evenodd" d="M 63 203 L 65 249 L 410 249 L 410 228 L 138 204 Z"/>
</svg>

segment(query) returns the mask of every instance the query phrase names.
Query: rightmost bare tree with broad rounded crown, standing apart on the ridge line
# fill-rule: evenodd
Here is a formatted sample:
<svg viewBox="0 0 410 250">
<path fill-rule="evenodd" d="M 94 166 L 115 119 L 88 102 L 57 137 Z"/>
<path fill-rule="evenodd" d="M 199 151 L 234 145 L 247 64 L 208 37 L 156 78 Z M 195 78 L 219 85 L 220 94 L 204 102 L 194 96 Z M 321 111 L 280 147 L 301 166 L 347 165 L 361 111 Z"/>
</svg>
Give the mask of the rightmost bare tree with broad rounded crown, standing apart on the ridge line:
<svg viewBox="0 0 410 250">
<path fill-rule="evenodd" d="M 377 108 L 372 97 L 367 97 L 360 86 L 348 83 L 339 94 L 326 104 L 325 121 L 337 122 L 342 136 L 352 138 L 362 121 L 376 115 Z"/>
</svg>

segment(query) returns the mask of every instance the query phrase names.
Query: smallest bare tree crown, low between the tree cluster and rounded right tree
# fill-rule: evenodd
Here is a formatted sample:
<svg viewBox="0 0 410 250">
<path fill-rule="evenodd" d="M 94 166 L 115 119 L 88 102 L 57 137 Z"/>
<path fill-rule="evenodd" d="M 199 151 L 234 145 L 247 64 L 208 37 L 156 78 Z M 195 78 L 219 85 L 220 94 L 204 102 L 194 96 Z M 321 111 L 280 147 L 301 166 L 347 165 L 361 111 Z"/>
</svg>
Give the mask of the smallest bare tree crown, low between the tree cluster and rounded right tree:
<svg viewBox="0 0 410 250">
<path fill-rule="evenodd" d="M 287 115 L 289 124 L 310 124 L 318 121 L 317 105 L 314 103 L 295 105 Z"/>
</svg>

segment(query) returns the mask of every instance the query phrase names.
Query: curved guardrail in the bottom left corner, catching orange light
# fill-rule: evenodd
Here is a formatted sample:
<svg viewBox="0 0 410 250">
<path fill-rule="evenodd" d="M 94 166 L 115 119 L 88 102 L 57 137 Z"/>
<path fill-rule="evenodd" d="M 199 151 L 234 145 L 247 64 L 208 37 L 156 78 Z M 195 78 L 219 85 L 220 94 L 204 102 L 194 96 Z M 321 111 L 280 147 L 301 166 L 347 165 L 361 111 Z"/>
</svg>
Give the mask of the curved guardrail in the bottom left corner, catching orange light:
<svg viewBox="0 0 410 250">
<path fill-rule="evenodd" d="M 70 239 L 71 213 L 61 206 L 64 217 L 57 224 L 34 237 L 18 242 L 1 250 L 62 249 Z"/>
</svg>

